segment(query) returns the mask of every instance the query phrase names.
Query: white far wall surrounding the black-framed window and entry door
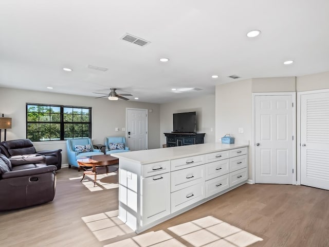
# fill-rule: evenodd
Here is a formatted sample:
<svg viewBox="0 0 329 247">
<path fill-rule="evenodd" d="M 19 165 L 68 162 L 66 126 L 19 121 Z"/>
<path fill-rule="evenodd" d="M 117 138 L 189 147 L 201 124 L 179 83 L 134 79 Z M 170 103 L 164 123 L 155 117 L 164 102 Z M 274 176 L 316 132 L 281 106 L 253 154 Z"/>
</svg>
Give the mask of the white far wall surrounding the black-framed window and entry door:
<svg viewBox="0 0 329 247">
<path fill-rule="evenodd" d="M 105 136 L 125 136 L 125 109 L 152 109 L 149 112 L 148 144 L 149 149 L 160 147 L 160 105 L 136 101 L 110 101 L 107 98 L 55 94 L 38 91 L 15 90 L 0 87 L 0 114 L 12 118 L 12 129 L 7 130 L 7 140 L 26 138 L 26 103 L 75 105 L 92 107 L 93 144 L 103 144 Z M 4 131 L 2 131 L 4 132 Z M 2 133 L 2 140 L 4 135 Z M 35 143 L 37 150 L 63 149 L 63 164 L 67 164 L 66 143 L 63 141 Z"/>
</svg>

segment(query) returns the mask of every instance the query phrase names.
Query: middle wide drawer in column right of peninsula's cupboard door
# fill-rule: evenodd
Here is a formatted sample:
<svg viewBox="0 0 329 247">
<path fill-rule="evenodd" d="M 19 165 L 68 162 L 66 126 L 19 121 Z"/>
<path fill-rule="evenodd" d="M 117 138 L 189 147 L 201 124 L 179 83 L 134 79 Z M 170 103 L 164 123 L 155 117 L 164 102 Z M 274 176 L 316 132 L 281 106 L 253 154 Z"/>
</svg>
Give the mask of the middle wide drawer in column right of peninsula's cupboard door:
<svg viewBox="0 0 329 247">
<path fill-rule="evenodd" d="M 171 192 L 205 181 L 205 165 L 171 172 Z"/>
</svg>

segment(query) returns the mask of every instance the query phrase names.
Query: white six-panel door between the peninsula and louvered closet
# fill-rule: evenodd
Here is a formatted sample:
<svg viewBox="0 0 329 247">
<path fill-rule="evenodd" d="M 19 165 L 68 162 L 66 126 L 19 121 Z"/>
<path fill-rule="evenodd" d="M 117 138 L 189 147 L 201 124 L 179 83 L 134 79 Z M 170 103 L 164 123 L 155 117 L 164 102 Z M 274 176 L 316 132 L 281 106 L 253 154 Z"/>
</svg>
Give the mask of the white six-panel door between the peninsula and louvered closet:
<svg viewBox="0 0 329 247">
<path fill-rule="evenodd" d="M 254 97 L 255 183 L 293 184 L 293 95 Z"/>
</svg>

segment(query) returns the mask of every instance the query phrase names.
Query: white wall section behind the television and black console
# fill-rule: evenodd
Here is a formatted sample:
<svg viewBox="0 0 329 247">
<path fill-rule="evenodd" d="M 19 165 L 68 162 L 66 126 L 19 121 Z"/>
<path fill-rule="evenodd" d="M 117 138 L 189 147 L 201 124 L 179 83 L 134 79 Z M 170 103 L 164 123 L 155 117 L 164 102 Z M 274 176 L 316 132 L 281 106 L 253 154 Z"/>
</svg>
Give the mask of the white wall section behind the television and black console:
<svg viewBox="0 0 329 247">
<path fill-rule="evenodd" d="M 173 131 L 173 113 L 196 112 L 196 132 L 206 133 L 204 142 L 215 142 L 215 95 L 178 100 L 160 105 L 160 140 L 166 144 L 165 132 Z"/>
</svg>

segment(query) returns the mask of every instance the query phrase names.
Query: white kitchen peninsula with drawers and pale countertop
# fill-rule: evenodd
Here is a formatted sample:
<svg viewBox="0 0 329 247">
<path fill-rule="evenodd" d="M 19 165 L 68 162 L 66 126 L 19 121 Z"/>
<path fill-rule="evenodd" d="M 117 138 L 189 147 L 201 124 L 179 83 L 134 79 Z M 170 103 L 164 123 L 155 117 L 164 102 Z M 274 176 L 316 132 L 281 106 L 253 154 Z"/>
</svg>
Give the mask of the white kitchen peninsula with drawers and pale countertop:
<svg viewBox="0 0 329 247">
<path fill-rule="evenodd" d="M 207 143 L 112 156 L 119 158 L 118 217 L 136 233 L 248 179 L 248 144 Z"/>
</svg>

